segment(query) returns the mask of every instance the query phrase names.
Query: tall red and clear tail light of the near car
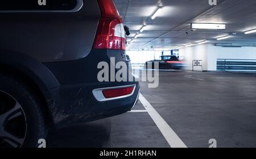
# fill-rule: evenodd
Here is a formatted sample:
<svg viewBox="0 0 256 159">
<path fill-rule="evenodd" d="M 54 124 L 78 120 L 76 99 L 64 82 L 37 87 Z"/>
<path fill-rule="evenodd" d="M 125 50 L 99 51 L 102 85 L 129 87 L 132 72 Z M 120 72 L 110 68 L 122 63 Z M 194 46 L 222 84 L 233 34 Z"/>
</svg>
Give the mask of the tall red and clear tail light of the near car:
<svg viewBox="0 0 256 159">
<path fill-rule="evenodd" d="M 113 0 L 98 0 L 101 19 L 98 24 L 94 49 L 125 50 L 125 29 Z"/>
</svg>

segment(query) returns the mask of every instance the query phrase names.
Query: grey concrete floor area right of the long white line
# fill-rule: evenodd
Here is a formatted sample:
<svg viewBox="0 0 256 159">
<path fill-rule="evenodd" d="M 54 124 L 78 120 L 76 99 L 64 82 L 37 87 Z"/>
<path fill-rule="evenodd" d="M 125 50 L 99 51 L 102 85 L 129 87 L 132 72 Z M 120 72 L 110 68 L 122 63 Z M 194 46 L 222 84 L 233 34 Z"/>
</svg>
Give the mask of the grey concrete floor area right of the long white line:
<svg viewBox="0 0 256 159">
<path fill-rule="evenodd" d="M 208 147 L 209 139 L 255 147 L 255 74 L 160 72 L 159 79 L 159 88 L 141 92 L 188 147 Z"/>
</svg>

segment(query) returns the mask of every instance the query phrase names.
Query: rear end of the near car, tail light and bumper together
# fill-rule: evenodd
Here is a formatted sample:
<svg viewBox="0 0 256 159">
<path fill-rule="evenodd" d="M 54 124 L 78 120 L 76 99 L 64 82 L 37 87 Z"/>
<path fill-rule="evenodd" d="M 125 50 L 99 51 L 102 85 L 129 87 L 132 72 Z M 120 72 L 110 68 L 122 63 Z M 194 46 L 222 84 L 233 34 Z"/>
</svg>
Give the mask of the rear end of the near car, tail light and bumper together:
<svg viewBox="0 0 256 159">
<path fill-rule="evenodd" d="M 49 90 L 52 96 L 49 110 L 56 127 L 122 114 L 133 108 L 138 100 L 139 83 L 128 67 L 127 78 L 122 81 L 115 78 L 120 70 L 115 68 L 117 63 L 129 65 L 124 58 L 123 20 L 113 0 L 98 0 L 97 3 L 101 14 L 89 54 L 77 60 L 44 63 L 60 82 L 60 87 Z M 103 69 L 98 65 L 101 62 L 108 64 L 109 77 L 105 81 L 98 79 L 98 73 Z M 129 80 L 129 76 L 133 80 Z"/>
</svg>

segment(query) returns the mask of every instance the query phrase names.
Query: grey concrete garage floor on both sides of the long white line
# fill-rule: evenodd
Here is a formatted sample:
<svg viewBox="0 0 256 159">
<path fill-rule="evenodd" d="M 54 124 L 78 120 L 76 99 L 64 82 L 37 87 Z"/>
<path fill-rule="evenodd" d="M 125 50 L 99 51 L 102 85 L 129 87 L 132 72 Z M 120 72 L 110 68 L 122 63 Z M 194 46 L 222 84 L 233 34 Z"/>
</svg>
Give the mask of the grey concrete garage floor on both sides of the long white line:
<svg viewBox="0 0 256 159">
<path fill-rule="evenodd" d="M 256 147 L 255 74 L 159 72 L 141 93 L 187 147 Z M 145 110 L 141 102 L 133 110 Z M 50 132 L 48 147 L 170 147 L 147 112 Z"/>
</svg>

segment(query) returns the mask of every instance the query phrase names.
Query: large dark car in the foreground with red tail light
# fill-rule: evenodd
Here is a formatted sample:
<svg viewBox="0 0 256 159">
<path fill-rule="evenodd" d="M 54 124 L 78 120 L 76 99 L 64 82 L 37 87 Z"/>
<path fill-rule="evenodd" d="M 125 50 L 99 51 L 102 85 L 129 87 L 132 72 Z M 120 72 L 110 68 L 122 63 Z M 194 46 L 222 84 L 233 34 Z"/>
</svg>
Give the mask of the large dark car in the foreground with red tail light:
<svg viewBox="0 0 256 159">
<path fill-rule="evenodd" d="M 129 64 L 113 0 L 11 2 L 0 6 L 0 147 L 37 147 L 49 127 L 133 108 L 138 82 L 97 79 L 102 61 Z"/>
</svg>

